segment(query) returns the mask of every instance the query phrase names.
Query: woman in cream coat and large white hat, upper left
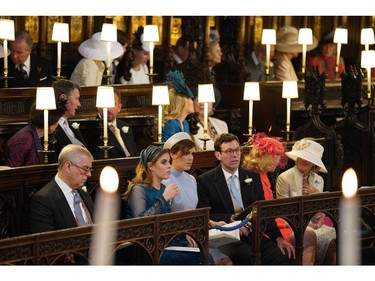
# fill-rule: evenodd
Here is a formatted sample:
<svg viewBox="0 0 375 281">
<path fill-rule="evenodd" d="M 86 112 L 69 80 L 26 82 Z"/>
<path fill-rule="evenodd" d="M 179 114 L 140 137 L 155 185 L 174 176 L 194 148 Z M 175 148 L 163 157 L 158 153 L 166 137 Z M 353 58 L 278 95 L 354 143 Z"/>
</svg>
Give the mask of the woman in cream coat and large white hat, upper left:
<svg viewBox="0 0 375 281">
<path fill-rule="evenodd" d="M 83 41 L 78 47 L 83 58 L 76 65 L 70 80 L 79 86 L 102 85 L 107 62 L 107 42 L 101 40 L 101 32 Z M 110 61 L 122 56 L 124 48 L 119 42 L 111 42 Z"/>
</svg>

